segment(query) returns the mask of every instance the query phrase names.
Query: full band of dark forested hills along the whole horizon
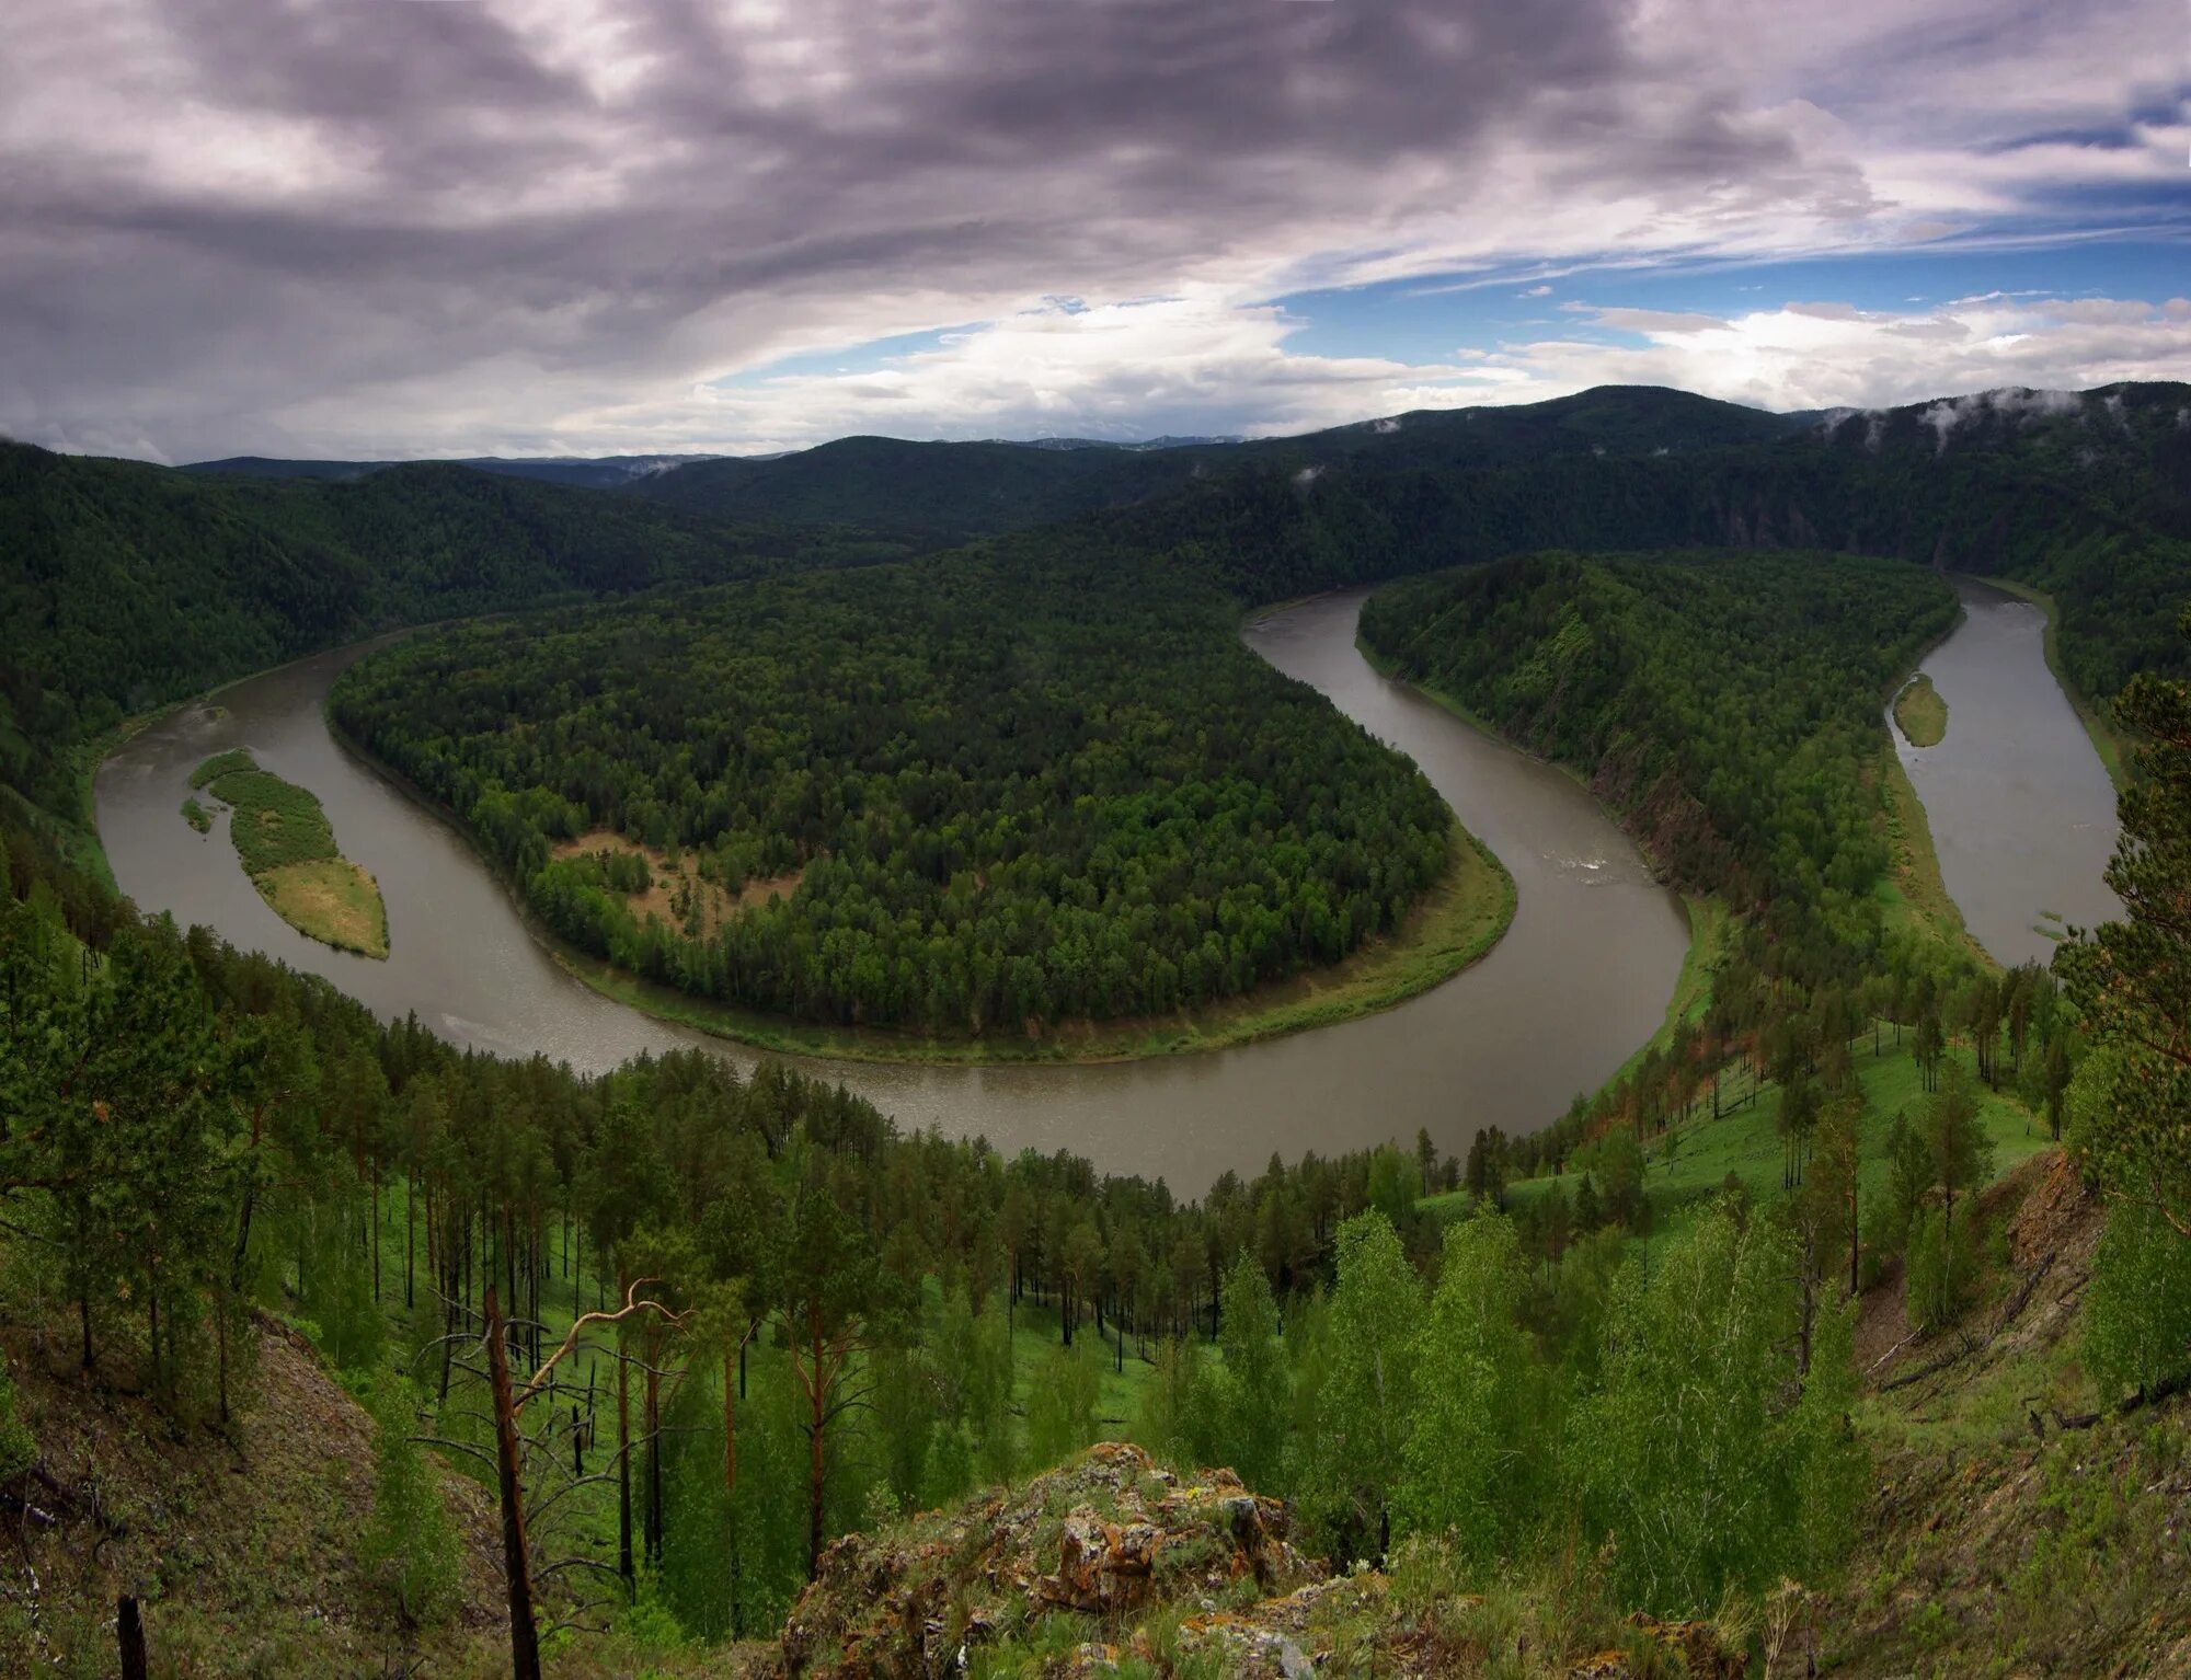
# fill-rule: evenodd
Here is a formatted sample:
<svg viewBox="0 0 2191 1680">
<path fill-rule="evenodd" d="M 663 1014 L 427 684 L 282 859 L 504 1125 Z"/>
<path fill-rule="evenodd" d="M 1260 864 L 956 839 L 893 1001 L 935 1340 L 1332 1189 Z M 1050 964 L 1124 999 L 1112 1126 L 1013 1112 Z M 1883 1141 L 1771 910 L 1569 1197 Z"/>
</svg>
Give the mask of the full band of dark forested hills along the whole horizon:
<svg viewBox="0 0 2191 1680">
<path fill-rule="evenodd" d="M 394 624 L 1060 519 L 1089 521 L 1078 543 L 1172 556 L 1251 602 L 1538 548 L 1893 554 L 2051 591 L 2062 664 L 2106 703 L 2138 670 L 2191 668 L 2173 635 L 2187 407 L 2184 386 L 2132 383 L 1797 421 L 1608 388 L 1251 445 L 861 438 L 622 491 L 432 462 L 353 482 L 188 475 L 0 445 L 0 775 L 68 802 L 68 743 Z"/>
</svg>

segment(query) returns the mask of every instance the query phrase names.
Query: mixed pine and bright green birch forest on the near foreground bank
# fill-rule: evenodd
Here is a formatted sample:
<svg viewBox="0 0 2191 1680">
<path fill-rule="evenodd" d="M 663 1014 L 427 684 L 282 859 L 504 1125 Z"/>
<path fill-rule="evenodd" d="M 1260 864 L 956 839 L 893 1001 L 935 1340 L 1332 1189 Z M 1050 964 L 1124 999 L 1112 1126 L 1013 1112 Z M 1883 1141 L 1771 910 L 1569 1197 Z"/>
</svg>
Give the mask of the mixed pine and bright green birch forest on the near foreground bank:
<svg viewBox="0 0 2191 1680">
<path fill-rule="evenodd" d="M 1860 1498 L 1845 1362 L 1805 1376 L 1799 1268 L 1764 1220 L 1707 1220 L 1645 1284 L 1610 1209 L 1564 1233 L 1586 1264 L 1547 1268 L 1488 1203 L 1442 1240 L 1420 1198 L 1459 1163 L 1429 1139 L 1183 1203 L 905 1137 L 778 1067 L 456 1054 L 138 918 L 26 830 L 0 843 L 0 1325 L 208 1441 L 248 1439 L 261 1314 L 298 1325 L 381 1417 L 386 1597 L 353 1612 L 390 1649 L 445 1625 L 456 1570 L 405 1437 L 495 1487 L 506 1428 L 502 1498 L 539 1505 L 511 1579 L 561 1610 L 642 1592 L 655 1638 L 765 1634 L 844 1529 L 1122 1430 L 1293 1494 L 1337 1557 L 1450 1529 L 1494 1568 L 1606 1535 L 1621 1590 L 1665 1608 L 1829 1566 Z M 607 1316 L 572 1356 L 581 1312 Z M 1735 1518 L 1641 1428 L 1698 1336 L 1742 1347 L 1678 1384 L 1748 1465 Z M 1106 1415 L 1128 1365 L 1133 1415 Z M 0 1365 L 0 1424 L 7 1393 Z M 37 1463 L 22 1441 L 0 1489 Z M 1663 1533 L 1652 1500 L 1691 1522 Z"/>
</svg>

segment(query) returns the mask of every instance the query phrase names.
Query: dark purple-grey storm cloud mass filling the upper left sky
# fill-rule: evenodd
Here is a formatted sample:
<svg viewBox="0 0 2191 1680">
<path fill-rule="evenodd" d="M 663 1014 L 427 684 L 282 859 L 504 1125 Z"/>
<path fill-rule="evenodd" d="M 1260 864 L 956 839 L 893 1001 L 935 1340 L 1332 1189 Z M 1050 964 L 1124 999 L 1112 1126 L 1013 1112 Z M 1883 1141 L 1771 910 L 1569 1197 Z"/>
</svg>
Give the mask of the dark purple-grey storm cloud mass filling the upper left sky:
<svg viewBox="0 0 2191 1680">
<path fill-rule="evenodd" d="M 1225 261 L 1275 274 L 1334 239 L 1398 248 L 1516 149 L 1567 153 L 1606 195 L 1856 193 L 1643 66 L 1613 0 L 572 18 L 18 11 L 0 425 L 186 456 L 272 447 L 272 416 L 340 392 L 359 436 L 401 434 L 372 392 L 434 379 L 454 412 L 557 372 L 598 401 L 787 333 L 859 337 L 870 291 L 1131 296 Z"/>
</svg>

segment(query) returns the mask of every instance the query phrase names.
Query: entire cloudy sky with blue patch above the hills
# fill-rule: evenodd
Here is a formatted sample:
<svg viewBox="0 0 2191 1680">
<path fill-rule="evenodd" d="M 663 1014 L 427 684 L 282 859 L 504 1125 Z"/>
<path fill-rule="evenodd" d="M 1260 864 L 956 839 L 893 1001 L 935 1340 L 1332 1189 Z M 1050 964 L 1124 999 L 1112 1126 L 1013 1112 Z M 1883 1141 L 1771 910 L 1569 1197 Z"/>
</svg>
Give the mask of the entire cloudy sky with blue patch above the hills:
<svg viewBox="0 0 2191 1680">
<path fill-rule="evenodd" d="M 0 434 L 1280 434 L 2191 379 L 2184 0 L 11 0 Z"/>
</svg>

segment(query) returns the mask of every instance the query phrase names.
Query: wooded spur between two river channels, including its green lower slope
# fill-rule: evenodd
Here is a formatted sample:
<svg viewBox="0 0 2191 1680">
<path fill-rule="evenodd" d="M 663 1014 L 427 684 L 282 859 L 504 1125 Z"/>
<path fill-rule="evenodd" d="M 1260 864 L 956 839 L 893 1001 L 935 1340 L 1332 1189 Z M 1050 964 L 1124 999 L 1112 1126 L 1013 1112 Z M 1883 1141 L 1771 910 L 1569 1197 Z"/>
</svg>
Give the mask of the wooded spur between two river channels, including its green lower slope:
<svg viewBox="0 0 2191 1680">
<path fill-rule="evenodd" d="M 1911 1025 L 1928 1058 L 1968 1036 L 1976 1071 L 2060 1132 L 2073 1016 L 2042 970 L 1992 973 L 1963 937 L 1882 718 L 1957 611 L 1922 567 L 1845 554 L 1532 554 L 1369 598 L 1378 659 L 1573 767 L 1676 885 L 1729 911 L 1683 1019 L 1501 1170 L 1556 1167 L 1617 1126 L 1632 1187 L 1641 1150 L 1672 1159 L 1737 1075 L 1744 1100 L 1777 1086 L 1799 1185 L 1854 1089 L 1851 1038 L 1878 1019 Z"/>
</svg>

